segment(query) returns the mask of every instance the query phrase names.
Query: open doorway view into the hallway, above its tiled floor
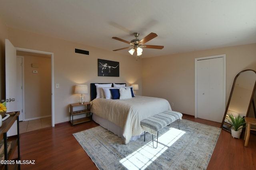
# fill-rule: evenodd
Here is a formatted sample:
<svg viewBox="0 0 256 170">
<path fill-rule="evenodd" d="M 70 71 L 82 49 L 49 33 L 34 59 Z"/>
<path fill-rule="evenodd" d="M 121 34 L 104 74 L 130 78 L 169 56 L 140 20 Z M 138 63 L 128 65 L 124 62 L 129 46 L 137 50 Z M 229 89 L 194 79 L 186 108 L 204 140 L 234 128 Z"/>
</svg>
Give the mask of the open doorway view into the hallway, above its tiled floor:
<svg viewBox="0 0 256 170">
<path fill-rule="evenodd" d="M 17 54 L 20 55 L 20 51 Z M 16 60 L 16 99 L 20 121 L 51 117 L 50 55 L 34 56 L 26 53 L 22 57 L 17 56 Z"/>
</svg>

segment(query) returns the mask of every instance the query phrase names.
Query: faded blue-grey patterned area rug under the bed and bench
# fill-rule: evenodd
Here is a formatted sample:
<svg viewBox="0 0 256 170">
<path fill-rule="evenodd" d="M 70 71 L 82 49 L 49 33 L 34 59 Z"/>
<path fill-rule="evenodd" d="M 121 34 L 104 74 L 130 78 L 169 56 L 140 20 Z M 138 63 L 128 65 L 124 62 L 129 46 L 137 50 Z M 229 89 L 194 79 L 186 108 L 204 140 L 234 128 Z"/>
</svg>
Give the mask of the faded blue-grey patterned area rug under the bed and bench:
<svg viewBox="0 0 256 170">
<path fill-rule="evenodd" d="M 127 145 L 101 126 L 74 133 L 100 170 L 205 170 L 220 135 L 220 128 L 182 119 L 159 131 L 158 147 L 146 133 Z M 154 136 L 156 147 L 156 136 Z"/>
</svg>

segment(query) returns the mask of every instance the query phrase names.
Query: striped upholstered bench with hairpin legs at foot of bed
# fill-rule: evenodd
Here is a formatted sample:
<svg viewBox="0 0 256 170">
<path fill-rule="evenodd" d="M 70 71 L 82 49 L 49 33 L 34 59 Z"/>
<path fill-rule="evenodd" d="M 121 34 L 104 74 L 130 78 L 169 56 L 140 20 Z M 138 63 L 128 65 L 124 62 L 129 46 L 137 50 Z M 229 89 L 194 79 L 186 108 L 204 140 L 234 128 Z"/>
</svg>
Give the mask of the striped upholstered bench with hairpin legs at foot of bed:
<svg viewBox="0 0 256 170">
<path fill-rule="evenodd" d="M 171 111 L 167 110 L 162 113 L 159 113 L 157 115 L 148 117 L 147 119 L 143 119 L 140 121 L 140 125 L 144 129 L 144 141 L 145 141 L 145 135 L 146 131 L 148 133 L 152 134 L 152 142 L 153 142 L 153 148 L 154 147 L 154 140 L 153 140 L 153 134 L 157 135 L 157 143 L 156 143 L 156 148 L 158 145 L 158 131 L 167 125 L 170 125 L 170 123 L 174 121 L 178 121 L 178 126 L 180 129 L 180 119 L 182 118 L 182 113 L 179 113 L 177 111 Z"/>
</svg>

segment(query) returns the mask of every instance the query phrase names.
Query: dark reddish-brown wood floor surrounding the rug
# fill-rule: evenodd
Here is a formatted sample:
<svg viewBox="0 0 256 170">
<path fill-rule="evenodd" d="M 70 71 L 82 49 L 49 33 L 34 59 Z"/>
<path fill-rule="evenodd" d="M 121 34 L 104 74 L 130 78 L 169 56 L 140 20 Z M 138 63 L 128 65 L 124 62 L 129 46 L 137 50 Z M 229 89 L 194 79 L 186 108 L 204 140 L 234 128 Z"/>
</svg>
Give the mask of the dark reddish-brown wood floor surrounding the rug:
<svg viewBox="0 0 256 170">
<path fill-rule="evenodd" d="M 220 123 L 183 115 L 183 119 L 220 127 Z M 22 164 L 23 170 L 35 169 L 86 169 L 98 168 L 76 141 L 73 133 L 98 126 L 94 121 L 74 125 L 60 123 L 21 134 L 20 153 L 22 160 L 35 160 L 35 164 Z M 248 147 L 243 139 L 233 139 L 222 130 L 208 164 L 207 170 L 256 170 L 256 135 L 250 136 Z"/>
</svg>

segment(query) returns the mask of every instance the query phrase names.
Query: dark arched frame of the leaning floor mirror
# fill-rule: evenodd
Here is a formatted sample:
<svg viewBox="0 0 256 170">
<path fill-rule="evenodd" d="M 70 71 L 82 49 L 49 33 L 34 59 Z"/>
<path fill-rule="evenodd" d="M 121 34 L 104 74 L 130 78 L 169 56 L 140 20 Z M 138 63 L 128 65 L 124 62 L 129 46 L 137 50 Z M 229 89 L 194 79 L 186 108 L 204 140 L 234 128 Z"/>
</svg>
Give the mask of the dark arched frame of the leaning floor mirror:
<svg viewBox="0 0 256 170">
<path fill-rule="evenodd" d="M 229 95 L 229 98 L 228 98 L 228 103 L 227 103 L 227 106 L 226 106 L 226 110 L 225 110 L 225 113 L 224 113 L 224 116 L 223 116 L 223 119 L 222 119 L 222 123 L 221 123 L 221 128 L 224 129 L 225 131 L 228 131 L 226 128 L 223 127 L 223 124 L 224 124 L 224 121 L 225 121 L 225 117 L 226 117 L 226 114 L 227 114 L 227 111 L 228 111 L 228 107 L 229 107 L 229 104 L 230 104 L 230 101 L 231 101 L 231 98 L 232 98 L 232 94 L 233 94 L 233 91 L 234 91 L 234 88 L 235 88 L 235 85 L 236 85 L 236 79 L 238 78 L 238 76 L 243 73 L 243 72 L 246 72 L 246 71 L 253 71 L 255 74 L 256 74 L 256 71 L 254 70 L 250 70 L 250 69 L 247 69 L 247 70 L 243 70 L 241 72 L 239 72 L 235 79 L 234 79 L 234 82 L 233 82 L 233 85 L 232 85 L 232 89 L 231 89 L 231 92 L 230 92 L 230 95 Z M 248 116 L 248 113 L 250 111 L 250 107 L 251 107 L 251 104 L 254 106 L 254 113 L 255 113 L 255 104 L 254 104 L 254 93 L 255 93 L 255 89 L 256 89 L 256 81 L 254 82 L 254 88 L 252 90 L 252 96 L 250 98 L 250 102 L 249 102 L 249 105 L 248 105 L 248 109 L 247 109 L 247 112 L 246 112 L 246 117 Z M 242 129 L 243 130 L 243 129 Z M 228 131 L 231 133 L 231 131 Z"/>
</svg>

